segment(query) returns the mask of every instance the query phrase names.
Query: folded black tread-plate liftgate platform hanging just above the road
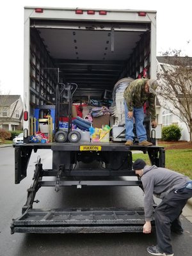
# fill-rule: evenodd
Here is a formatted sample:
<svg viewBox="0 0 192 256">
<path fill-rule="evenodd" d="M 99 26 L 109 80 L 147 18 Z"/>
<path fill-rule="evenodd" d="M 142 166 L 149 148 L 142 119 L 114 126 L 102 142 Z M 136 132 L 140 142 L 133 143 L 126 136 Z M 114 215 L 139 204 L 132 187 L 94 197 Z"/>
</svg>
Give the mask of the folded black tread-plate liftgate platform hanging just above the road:
<svg viewBox="0 0 192 256">
<path fill-rule="evenodd" d="M 143 209 L 30 209 L 13 220 L 12 234 L 143 232 Z"/>
</svg>

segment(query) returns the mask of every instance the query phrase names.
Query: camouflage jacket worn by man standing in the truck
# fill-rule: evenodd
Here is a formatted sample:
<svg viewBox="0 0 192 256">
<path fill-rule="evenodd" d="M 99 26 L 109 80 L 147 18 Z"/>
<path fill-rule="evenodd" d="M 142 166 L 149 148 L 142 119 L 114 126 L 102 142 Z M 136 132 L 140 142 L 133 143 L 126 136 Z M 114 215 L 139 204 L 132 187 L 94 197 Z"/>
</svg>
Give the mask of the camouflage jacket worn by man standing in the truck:
<svg viewBox="0 0 192 256">
<path fill-rule="evenodd" d="M 156 95 L 145 92 L 145 83 L 147 80 L 147 78 L 141 78 L 132 81 L 125 89 L 124 99 L 129 111 L 132 111 L 133 107 L 141 108 L 148 101 L 150 117 L 152 120 L 156 120 Z"/>
</svg>

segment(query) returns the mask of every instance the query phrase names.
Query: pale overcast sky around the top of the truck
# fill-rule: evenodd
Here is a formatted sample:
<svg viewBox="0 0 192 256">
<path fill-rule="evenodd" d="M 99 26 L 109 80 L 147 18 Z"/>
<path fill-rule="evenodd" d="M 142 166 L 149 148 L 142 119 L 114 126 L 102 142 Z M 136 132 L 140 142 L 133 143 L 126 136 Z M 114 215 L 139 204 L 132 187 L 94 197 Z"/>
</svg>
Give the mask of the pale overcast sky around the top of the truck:
<svg viewBox="0 0 192 256">
<path fill-rule="evenodd" d="M 24 6 L 101 8 L 157 11 L 157 56 L 181 49 L 192 57 L 191 6 L 189 0 L 6 0 L 0 15 L 0 92 L 23 93 Z"/>
</svg>

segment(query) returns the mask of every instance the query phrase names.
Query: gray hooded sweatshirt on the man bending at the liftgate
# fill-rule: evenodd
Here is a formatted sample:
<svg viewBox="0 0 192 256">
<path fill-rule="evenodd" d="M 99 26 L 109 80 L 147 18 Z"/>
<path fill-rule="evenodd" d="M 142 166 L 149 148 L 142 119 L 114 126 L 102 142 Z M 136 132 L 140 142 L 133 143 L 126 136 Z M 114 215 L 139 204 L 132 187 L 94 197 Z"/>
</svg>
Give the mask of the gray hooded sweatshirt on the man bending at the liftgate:
<svg viewBox="0 0 192 256">
<path fill-rule="evenodd" d="M 189 177 L 186 177 L 180 173 L 173 172 L 166 168 L 153 166 L 145 166 L 143 168 L 143 175 L 141 182 L 145 191 L 144 196 L 144 210 L 145 220 L 152 220 L 153 210 L 153 195 L 163 199 L 170 191 L 184 188 Z"/>
</svg>

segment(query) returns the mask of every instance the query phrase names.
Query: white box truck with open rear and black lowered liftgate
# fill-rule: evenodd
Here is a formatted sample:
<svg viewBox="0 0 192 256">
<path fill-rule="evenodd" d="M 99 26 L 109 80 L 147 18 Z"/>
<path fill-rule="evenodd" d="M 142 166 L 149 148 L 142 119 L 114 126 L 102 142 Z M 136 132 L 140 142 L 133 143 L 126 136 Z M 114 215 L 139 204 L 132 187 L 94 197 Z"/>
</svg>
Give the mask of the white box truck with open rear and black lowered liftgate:
<svg viewBox="0 0 192 256">
<path fill-rule="evenodd" d="M 44 186 L 56 191 L 61 186 L 141 186 L 137 179 L 117 179 L 134 175 L 132 150 L 141 150 L 152 164 L 164 166 L 164 148 L 156 145 L 54 140 L 66 93 L 74 102 L 99 100 L 120 79 L 142 76 L 156 77 L 155 11 L 24 8 L 24 144 L 15 147 L 15 184 L 26 177 L 32 150 L 52 150 L 52 169 L 44 170 L 40 161 L 36 164 L 22 216 L 12 222 L 12 234 L 142 232 L 144 212 L 136 209 L 33 209 L 36 192 Z M 77 88 L 70 91 L 66 84 Z M 51 123 L 44 116 L 47 109 Z M 48 127 L 49 143 L 31 140 L 40 125 Z M 99 163 L 97 168 L 93 161 Z"/>
</svg>

